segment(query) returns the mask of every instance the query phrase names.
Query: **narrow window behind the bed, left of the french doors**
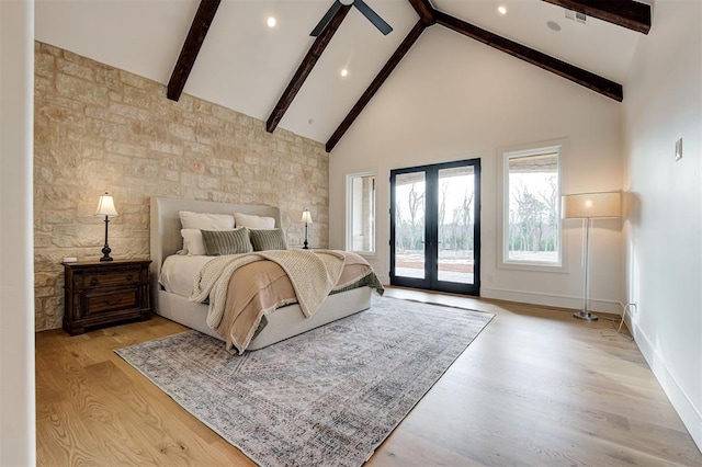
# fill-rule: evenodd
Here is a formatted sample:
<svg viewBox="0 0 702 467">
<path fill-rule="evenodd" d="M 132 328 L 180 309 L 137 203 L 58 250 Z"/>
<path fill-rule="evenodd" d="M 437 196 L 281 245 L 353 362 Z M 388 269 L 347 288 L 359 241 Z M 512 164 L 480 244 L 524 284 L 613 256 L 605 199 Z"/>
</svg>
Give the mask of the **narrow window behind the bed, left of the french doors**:
<svg viewBox="0 0 702 467">
<path fill-rule="evenodd" d="M 347 178 L 347 250 L 375 253 L 375 173 Z"/>
</svg>

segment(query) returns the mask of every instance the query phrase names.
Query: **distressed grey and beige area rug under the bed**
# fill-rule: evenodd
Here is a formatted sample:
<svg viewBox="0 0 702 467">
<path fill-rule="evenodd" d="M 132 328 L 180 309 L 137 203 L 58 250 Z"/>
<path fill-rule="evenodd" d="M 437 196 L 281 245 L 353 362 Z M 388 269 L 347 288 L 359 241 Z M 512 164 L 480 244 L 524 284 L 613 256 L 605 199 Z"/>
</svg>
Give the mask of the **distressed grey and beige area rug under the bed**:
<svg viewBox="0 0 702 467">
<path fill-rule="evenodd" d="M 115 352 L 261 466 L 360 466 L 492 316 L 374 296 L 244 355 L 197 331 Z"/>
</svg>

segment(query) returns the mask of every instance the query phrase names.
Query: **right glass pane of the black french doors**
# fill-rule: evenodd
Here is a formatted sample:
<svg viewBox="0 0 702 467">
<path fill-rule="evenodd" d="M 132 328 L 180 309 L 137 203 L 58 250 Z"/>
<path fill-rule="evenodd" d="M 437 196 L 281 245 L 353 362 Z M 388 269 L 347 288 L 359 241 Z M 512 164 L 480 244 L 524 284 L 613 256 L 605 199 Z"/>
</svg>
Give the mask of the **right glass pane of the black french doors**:
<svg viewBox="0 0 702 467">
<path fill-rule="evenodd" d="M 474 170 L 439 170 L 439 281 L 473 284 Z"/>
</svg>

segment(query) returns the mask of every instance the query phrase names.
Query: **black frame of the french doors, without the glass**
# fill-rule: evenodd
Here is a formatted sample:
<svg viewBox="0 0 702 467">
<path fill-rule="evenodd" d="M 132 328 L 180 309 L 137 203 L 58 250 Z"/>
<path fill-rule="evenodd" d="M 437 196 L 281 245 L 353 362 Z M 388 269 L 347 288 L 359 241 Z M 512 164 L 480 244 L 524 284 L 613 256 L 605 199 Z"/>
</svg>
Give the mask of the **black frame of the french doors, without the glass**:
<svg viewBox="0 0 702 467">
<path fill-rule="evenodd" d="M 474 174 L 474 226 L 473 226 L 473 284 L 461 284 L 438 280 L 439 260 L 439 171 L 456 167 L 473 167 Z M 395 180 L 398 174 L 424 172 L 424 278 L 404 277 L 395 275 Z M 435 292 L 449 292 L 463 295 L 480 295 L 480 159 L 463 159 L 452 162 L 432 163 L 390 170 L 390 285 L 400 287 L 422 288 Z M 430 209 L 429 206 L 437 206 Z"/>
</svg>

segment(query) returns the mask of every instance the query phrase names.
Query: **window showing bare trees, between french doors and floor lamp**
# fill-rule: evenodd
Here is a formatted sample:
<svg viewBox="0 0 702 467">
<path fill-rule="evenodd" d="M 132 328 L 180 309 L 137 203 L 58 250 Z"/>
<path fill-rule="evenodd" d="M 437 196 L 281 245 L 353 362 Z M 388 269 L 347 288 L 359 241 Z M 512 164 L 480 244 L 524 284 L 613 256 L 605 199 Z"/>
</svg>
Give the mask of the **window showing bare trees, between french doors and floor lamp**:
<svg viewBox="0 0 702 467">
<path fill-rule="evenodd" d="M 561 146 L 506 152 L 502 263 L 561 266 Z"/>
</svg>

